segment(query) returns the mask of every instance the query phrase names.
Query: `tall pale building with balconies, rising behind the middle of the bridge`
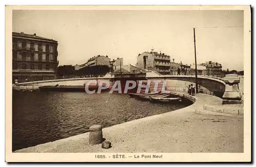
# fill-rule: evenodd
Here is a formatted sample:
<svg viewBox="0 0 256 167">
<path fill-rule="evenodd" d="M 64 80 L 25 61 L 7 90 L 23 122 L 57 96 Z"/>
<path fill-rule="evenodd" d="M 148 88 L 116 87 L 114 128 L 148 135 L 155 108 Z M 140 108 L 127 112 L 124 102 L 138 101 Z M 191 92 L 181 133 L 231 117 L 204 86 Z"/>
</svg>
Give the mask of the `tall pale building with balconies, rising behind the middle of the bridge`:
<svg viewBox="0 0 256 167">
<path fill-rule="evenodd" d="M 141 69 L 154 70 L 160 74 L 169 75 L 170 56 L 152 49 L 151 52 L 143 52 L 138 55 L 136 66 Z"/>
</svg>

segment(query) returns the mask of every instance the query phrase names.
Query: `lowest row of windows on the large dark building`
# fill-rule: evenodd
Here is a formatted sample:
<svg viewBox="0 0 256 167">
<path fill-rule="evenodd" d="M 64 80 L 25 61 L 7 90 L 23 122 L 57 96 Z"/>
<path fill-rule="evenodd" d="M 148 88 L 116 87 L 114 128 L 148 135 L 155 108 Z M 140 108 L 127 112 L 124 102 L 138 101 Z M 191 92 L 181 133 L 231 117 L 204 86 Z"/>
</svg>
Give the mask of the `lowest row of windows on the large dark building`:
<svg viewBox="0 0 256 167">
<path fill-rule="evenodd" d="M 42 64 L 38 64 L 38 65 L 34 65 L 34 64 L 30 64 L 30 67 L 23 63 L 23 64 L 17 64 L 17 63 L 13 63 L 12 64 L 12 69 L 23 69 L 23 70 L 27 70 L 27 69 L 30 69 L 30 70 L 42 70 L 42 69 L 45 69 L 45 70 L 54 70 L 55 69 L 55 65 L 51 64 L 46 64 L 44 66 L 44 68 L 42 68 Z"/>
</svg>

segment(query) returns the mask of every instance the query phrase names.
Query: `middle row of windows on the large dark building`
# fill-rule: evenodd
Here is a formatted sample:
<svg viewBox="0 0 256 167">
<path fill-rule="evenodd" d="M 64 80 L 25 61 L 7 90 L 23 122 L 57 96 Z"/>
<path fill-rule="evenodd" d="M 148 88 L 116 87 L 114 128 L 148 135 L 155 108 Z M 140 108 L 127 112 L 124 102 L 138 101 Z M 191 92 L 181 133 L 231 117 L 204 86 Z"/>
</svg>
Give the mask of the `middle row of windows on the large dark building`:
<svg viewBox="0 0 256 167">
<path fill-rule="evenodd" d="M 31 62 L 54 62 L 53 54 L 42 54 L 34 52 L 12 52 L 12 59 L 19 61 L 31 61 Z"/>
</svg>

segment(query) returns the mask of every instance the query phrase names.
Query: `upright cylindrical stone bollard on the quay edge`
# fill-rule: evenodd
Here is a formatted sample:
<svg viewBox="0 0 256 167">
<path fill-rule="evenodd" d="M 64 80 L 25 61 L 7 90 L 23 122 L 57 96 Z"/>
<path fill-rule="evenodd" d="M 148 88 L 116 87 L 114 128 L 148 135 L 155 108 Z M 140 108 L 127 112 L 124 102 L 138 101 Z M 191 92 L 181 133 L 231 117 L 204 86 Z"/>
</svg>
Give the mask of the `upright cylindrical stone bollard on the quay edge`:
<svg viewBox="0 0 256 167">
<path fill-rule="evenodd" d="M 102 126 L 101 125 L 93 125 L 89 128 L 89 144 L 96 145 L 103 142 L 102 137 Z"/>
</svg>

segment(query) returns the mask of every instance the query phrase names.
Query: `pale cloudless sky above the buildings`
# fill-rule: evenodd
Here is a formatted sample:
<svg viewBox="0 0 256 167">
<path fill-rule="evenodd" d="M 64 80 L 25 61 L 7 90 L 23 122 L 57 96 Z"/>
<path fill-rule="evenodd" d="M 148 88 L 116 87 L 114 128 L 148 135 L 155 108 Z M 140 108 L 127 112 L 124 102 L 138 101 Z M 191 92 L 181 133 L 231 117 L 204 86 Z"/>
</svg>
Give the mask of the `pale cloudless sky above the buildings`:
<svg viewBox="0 0 256 167">
<path fill-rule="evenodd" d="M 83 64 L 98 54 L 135 65 L 137 55 L 152 48 L 190 65 L 193 27 L 198 27 L 197 63 L 213 61 L 240 71 L 243 17 L 243 11 L 227 10 L 16 10 L 12 30 L 58 41 L 59 65 Z"/>
</svg>

